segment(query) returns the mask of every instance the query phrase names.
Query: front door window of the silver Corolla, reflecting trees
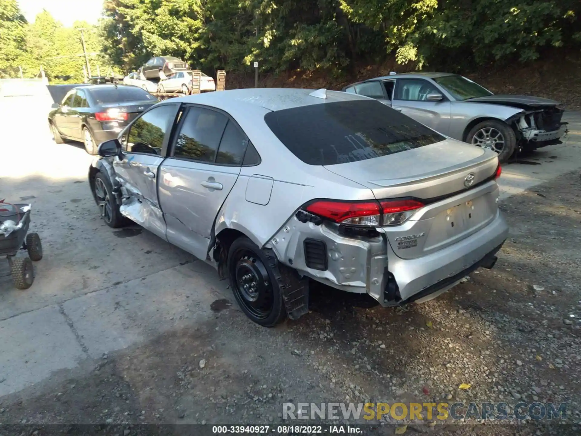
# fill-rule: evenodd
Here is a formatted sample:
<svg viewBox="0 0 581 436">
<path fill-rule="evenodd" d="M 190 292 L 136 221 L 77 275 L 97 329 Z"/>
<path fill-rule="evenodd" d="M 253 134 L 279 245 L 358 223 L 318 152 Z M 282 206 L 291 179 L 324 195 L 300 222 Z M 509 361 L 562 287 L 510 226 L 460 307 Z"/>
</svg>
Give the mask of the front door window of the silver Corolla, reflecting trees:
<svg viewBox="0 0 581 436">
<path fill-rule="evenodd" d="M 160 155 L 163 138 L 171 128 L 174 116 L 174 105 L 157 106 L 145 112 L 131 124 L 124 144 L 125 151 Z"/>
</svg>

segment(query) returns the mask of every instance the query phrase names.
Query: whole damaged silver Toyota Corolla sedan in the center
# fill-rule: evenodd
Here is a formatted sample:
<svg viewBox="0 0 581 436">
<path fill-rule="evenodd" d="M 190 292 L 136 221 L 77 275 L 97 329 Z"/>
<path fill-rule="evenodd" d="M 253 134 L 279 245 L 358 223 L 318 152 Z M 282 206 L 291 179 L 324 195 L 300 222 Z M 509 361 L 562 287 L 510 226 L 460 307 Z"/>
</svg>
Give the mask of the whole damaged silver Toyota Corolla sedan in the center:
<svg viewBox="0 0 581 436">
<path fill-rule="evenodd" d="M 496 153 L 345 92 L 170 99 L 99 155 L 105 223 L 211 263 L 263 326 L 307 313 L 309 280 L 382 306 L 433 298 L 492 268 L 508 234 Z"/>
</svg>

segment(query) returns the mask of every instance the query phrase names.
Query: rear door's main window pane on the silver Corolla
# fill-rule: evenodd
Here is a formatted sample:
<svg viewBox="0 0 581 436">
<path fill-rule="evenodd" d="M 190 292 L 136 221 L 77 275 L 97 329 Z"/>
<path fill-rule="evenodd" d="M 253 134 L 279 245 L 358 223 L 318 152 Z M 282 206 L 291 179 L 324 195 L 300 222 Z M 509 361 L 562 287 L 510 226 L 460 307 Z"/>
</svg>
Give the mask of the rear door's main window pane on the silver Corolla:
<svg viewBox="0 0 581 436">
<path fill-rule="evenodd" d="M 228 118 L 215 110 L 191 107 L 175 140 L 173 156 L 214 163 Z"/>
</svg>

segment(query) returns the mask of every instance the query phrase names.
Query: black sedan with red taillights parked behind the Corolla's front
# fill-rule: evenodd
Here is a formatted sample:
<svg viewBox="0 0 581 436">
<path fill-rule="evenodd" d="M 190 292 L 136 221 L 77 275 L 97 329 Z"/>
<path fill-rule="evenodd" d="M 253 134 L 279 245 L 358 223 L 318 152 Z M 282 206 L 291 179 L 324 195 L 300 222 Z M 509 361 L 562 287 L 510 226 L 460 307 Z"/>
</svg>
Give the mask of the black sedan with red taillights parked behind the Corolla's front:
<svg viewBox="0 0 581 436">
<path fill-rule="evenodd" d="M 157 102 L 134 86 L 78 86 L 52 105 L 48 122 L 57 144 L 81 141 L 87 153 L 96 155 L 101 142 L 117 138 L 132 119 Z"/>
</svg>

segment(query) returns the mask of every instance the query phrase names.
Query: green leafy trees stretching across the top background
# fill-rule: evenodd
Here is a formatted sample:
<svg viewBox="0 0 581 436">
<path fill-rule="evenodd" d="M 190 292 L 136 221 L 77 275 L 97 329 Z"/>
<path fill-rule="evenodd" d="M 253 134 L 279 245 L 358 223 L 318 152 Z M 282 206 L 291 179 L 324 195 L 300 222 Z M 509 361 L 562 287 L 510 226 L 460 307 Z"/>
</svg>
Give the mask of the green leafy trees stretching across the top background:
<svg viewBox="0 0 581 436">
<path fill-rule="evenodd" d="M 78 80 L 77 30 L 47 12 L 28 24 L 16 0 L 0 3 L 0 71 L 42 65 L 49 79 Z M 575 104 L 580 14 L 579 0 L 105 0 L 98 26 L 75 27 L 89 28 L 91 62 L 123 72 L 174 55 L 227 70 L 233 87 L 253 85 L 257 61 L 263 85 L 332 88 L 389 70 L 444 70 Z"/>
</svg>

